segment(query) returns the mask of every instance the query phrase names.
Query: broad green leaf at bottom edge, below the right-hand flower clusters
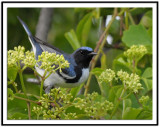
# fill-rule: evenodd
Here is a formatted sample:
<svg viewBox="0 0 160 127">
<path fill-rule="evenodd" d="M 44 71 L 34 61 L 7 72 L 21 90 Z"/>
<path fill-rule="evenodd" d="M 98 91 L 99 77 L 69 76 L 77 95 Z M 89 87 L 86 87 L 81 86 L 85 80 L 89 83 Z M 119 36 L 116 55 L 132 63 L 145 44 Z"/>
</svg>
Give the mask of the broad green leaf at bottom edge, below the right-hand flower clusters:
<svg viewBox="0 0 160 127">
<path fill-rule="evenodd" d="M 141 111 L 142 111 L 141 108 L 127 107 L 126 110 L 124 111 L 122 119 L 135 120 L 137 119 L 137 116 L 140 114 Z"/>
</svg>

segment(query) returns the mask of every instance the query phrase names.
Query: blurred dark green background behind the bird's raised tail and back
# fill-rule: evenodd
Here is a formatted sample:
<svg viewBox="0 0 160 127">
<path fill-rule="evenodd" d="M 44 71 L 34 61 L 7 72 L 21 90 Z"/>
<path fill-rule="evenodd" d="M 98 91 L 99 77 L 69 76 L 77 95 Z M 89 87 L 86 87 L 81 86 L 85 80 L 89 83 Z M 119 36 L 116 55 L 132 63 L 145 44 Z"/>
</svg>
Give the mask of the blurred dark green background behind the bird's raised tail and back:
<svg viewBox="0 0 160 127">
<path fill-rule="evenodd" d="M 71 29 L 76 30 L 79 21 L 90 10 L 92 9 L 54 8 L 47 42 L 67 53 L 72 53 L 74 50 L 67 42 L 64 34 Z M 17 16 L 28 25 L 32 34 L 35 35 L 39 15 L 40 8 L 8 8 L 8 49 L 13 49 L 14 46 L 18 45 L 24 46 L 26 50 L 31 49 L 27 34 L 18 21 Z M 91 26 L 87 46 L 95 47 L 98 40 L 97 30 L 98 23 L 95 22 Z"/>
</svg>

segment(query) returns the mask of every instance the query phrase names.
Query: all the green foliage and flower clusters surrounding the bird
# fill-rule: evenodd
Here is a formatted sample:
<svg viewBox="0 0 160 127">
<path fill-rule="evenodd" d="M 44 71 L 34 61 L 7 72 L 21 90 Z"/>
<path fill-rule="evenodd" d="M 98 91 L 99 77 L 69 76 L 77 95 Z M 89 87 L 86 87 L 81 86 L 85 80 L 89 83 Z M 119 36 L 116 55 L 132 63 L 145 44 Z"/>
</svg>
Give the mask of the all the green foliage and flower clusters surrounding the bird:
<svg viewBox="0 0 160 127">
<path fill-rule="evenodd" d="M 20 10 L 23 9 L 13 9 L 13 12 L 9 9 L 9 29 L 18 24 L 11 14 L 17 15 Z M 26 10 L 39 14 L 39 9 L 22 12 Z M 49 33 L 49 40 L 54 35 L 52 41 L 56 47 L 68 52 L 81 46 L 98 47 L 88 81 L 76 88 L 54 88 L 44 94 L 45 79 L 56 70 L 69 67 L 68 61 L 63 55 L 48 52 L 36 60 L 33 52 L 25 51 L 29 49 L 29 42 L 22 41 L 25 48 L 17 46 L 20 41 L 17 37 L 12 40 L 9 33 L 8 119 L 152 119 L 152 10 L 68 8 L 54 11 L 54 29 Z M 108 26 L 102 26 L 111 14 Z M 139 18 L 139 15 L 143 16 Z M 116 16 L 120 16 L 120 20 Z M 35 26 L 35 21 L 30 25 Z M 108 34 L 114 38 L 111 44 L 106 43 Z M 10 42 L 14 41 L 17 47 L 11 50 L 14 44 Z M 45 70 L 43 75 L 34 69 L 37 63 Z M 26 74 L 26 68 L 34 74 Z M 41 79 L 39 86 L 26 81 L 35 75 Z"/>
</svg>

